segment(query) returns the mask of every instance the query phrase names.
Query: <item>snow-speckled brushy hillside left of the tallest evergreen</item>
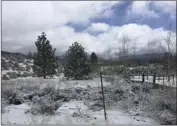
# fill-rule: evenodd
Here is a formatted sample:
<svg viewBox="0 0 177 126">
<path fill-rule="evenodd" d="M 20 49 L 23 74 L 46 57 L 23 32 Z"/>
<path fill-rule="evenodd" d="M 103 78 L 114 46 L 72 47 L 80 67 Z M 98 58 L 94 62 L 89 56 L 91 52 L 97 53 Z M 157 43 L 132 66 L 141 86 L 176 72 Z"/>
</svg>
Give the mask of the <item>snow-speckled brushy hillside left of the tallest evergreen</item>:
<svg viewBox="0 0 177 126">
<path fill-rule="evenodd" d="M 33 60 L 21 53 L 1 51 L 1 78 L 4 80 L 33 74 Z"/>
</svg>

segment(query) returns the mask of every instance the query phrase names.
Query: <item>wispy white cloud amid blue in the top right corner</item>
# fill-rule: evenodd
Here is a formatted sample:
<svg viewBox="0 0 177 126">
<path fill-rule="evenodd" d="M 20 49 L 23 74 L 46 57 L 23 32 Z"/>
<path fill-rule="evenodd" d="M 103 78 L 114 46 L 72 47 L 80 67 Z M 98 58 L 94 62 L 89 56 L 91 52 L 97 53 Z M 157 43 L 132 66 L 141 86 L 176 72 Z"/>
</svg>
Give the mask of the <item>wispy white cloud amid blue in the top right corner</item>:
<svg viewBox="0 0 177 126">
<path fill-rule="evenodd" d="M 168 13 L 172 18 L 175 18 L 176 1 L 134 1 L 127 11 L 127 16 L 158 18 L 160 14 L 164 13 Z"/>
</svg>

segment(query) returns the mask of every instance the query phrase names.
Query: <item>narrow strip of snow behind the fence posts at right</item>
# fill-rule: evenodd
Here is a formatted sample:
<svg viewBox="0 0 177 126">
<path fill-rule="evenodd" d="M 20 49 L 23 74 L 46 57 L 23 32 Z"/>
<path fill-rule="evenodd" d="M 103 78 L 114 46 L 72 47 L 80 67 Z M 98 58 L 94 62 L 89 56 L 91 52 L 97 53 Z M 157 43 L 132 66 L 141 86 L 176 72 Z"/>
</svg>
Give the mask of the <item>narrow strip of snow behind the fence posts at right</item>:
<svg viewBox="0 0 177 126">
<path fill-rule="evenodd" d="M 131 80 L 142 81 L 142 76 L 133 76 L 133 77 L 131 77 Z M 153 82 L 153 76 L 148 76 L 148 78 L 147 78 L 147 76 L 145 76 L 144 81 L 152 83 Z M 167 77 L 164 78 L 164 81 L 163 81 L 163 77 L 156 77 L 156 84 L 176 87 L 176 77 L 174 77 L 174 80 L 171 77 L 170 82 L 168 82 Z"/>
</svg>

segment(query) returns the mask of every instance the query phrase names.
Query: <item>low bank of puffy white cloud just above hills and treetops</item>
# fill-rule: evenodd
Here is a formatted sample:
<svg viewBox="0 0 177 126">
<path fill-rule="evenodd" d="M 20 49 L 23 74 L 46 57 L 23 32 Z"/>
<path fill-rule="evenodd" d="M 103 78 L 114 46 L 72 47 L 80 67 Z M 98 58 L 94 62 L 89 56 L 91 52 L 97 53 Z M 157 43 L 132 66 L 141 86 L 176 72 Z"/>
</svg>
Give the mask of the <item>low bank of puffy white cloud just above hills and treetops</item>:
<svg viewBox="0 0 177 126">
<path fill-rule="evenodd" d="M 147 25 L 127 24 L 121 27 L 109 26 L 109 30 L 94 36 L 86 32 L 76 32 L 72 27 L 63 25 L 59 28 L 46 31 L 46 34 L 53 47 L 57 49 L 57 54 L 65 52 L 75 41 L 81 43 L 89 53 L 103 53 L 108 47 L 112 49 L 113 53 L 120 45 L 123 36 L 130 38 L 130 47 L 134 45 L 134 41 L 137 39 L 137 48 L 145 48 L 142 53 L 146 53 L 148 41 L 157 41 L 157 43 L 160 44 L 163 38 L 167 35 L 167 31 L 163 28 L 152 29 Z M 10 40 L 10 43 L 6 43 L 7 45 L 3 47 L 10 51 L 26 51 L 27 53 L 29 49 L 34 50 L 34 41 L 37 39 L 38 35 L 40 35 L 40 32 L 29 34 L 27 36 L 20 36 L 18 38 L 19 43 L 11 45 L 13 47 L 18 47 L 18 49 L 9 48 L 9 44 L 12 43 Z M 23 41 L 29 44 L 23 44 Z M 19 45 L 21 46 L 21 49 L 19 48 Z M 154 46 L 153 48 L 155 50 L 157 46 Z"/>
</svg>

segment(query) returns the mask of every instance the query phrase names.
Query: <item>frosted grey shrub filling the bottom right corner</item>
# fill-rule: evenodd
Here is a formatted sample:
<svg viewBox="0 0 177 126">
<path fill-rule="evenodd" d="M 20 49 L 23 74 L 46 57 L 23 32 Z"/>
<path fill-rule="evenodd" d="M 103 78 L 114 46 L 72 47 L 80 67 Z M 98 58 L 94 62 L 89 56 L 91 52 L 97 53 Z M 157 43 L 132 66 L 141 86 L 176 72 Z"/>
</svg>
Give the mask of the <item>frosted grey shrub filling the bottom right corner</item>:
<svg viewBox="0 0 177 126">
<path fill-rule="evenodd" d="M 176 125 L 176 89 L 165 87 L 164 90 L 155 89 L 149 98 L 148 111 L 161 122 L 161 124 Z"/>
</svg>

